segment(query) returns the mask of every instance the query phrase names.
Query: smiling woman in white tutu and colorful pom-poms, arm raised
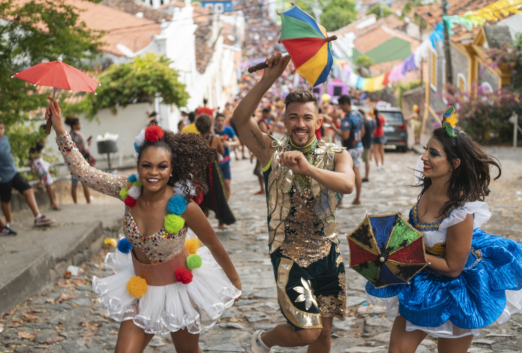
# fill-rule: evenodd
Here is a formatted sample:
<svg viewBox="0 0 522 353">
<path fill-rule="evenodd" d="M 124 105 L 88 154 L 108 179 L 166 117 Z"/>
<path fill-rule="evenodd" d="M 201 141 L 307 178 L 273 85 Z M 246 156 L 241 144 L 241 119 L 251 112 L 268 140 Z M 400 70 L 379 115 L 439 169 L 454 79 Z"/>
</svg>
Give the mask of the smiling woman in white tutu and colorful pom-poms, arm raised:
<svg viewBox="0 0 522 353">
<path fill-rule="evenodd" d="M 74 177 L 125 203 L 125 237 L 105 258 L 114 275 L 92 280 L 109 316 L 121 322 L 115 352 L 143 352 L 153 335 L 170 333 L 178 353 L 199 353 L 201 328 L 241 296 L 239 276 L 197 205 L 207 191 L 202 171 L 215 152 L 194 134 L 150 125 L 134 143 L 138 173 L 127 178 L 89 166 L 57 102 L 45 119 Z M 186 239 L 188 231 L 195 235 Z"/>
</svg>

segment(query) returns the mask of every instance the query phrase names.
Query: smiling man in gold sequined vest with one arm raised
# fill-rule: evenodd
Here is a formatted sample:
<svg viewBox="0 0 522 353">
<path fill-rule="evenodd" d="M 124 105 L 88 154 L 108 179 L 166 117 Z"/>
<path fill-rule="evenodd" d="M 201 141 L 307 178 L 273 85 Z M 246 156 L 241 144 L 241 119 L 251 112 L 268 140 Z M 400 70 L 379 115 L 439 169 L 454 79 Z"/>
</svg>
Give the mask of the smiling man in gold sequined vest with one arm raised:
<svg viewBox="0 0 522 353">
<path fill-rule="evenodd" d="M 287 135 L 281 140 L 262 133 L 252 114 L 266 91 L 286 68 L 289 57 L 267 58 L 263 78 L 248 92 L 233 114 L 245 146 L 263 167 L 268 206 L 269 252 L 277 296 L 287 323 L 251 338 L 251 353 L 273 346 L 309 346 L 330 351 L 334 317 L 346 319 L 345 267 L 335 230 L 339 194 L 353 191 L 355 175 L 350 154 L 317 140 L 321 126 L 317 98 L 309 90 L 290 92 L 284 103 Z"/>
</svg>

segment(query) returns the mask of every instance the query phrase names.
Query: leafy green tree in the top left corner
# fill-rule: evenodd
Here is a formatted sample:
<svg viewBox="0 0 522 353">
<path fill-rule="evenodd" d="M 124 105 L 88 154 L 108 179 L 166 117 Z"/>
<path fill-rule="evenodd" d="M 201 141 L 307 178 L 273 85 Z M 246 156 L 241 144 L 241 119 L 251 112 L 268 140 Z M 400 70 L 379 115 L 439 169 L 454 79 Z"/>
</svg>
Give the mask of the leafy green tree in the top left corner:
<svg viewBox="0 0 522 353">
<path fill-rule="evenodd" d="M 48 92 L 10 76 L 58 56 L 67 64 L 88 69 L 87 62 L 96 57 L 102 44 L 102 33 L 79 22 L 78 8 L 65 0 L 2 0 L 0 17 L 9 20 L 0 26 L 0 120 L 6 125 L 11 150 L 22 166 L 27 163 L 28 146 L 41 138 L 30 118 L 49 104 Z"/>
</svg>

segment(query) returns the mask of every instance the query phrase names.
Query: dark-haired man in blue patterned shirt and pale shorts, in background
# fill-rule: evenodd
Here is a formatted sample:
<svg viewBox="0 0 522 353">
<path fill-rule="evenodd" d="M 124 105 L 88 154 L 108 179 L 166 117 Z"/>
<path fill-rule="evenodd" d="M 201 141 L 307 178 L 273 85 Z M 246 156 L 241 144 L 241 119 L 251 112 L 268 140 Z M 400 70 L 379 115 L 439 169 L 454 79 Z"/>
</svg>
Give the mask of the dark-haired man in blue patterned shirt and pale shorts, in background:
<svg viewBox="0 0 522 353">
<path fill-rule="evenodd" d="M 352 109 L 350 97 L 342 95 L 338 99 L 339 108 L 346 113 L 341 120 L 341 137 L 342 146 L 346 147 L 353 160 L 353 172 L 355 173 L 355 199 L 353 205 L 361 204 L 361 186 L 362 178 L 359 171 L 361 165 L 362 152 L 364 150 L 362 145 L 362 137 L 364 136 L 364 118 L 357 110 Z"/>
</svg>

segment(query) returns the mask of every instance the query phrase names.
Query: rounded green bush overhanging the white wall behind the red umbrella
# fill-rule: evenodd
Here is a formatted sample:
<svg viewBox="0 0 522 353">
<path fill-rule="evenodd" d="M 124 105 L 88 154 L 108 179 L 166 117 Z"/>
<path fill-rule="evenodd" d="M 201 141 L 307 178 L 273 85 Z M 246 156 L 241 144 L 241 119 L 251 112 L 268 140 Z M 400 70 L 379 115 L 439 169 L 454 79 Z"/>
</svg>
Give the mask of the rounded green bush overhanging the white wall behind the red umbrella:
<svg viewBox="0 0 522 353">
<path fill-rule="evenodd" d="M 124 64 L 113 64 L 98 77 L 101 87 L 97 96 L 88 95 L 82 109 L 93 117 L 98 109 L 116 108 L 138 102 L 153 102 L 161 97 L 165 104 L 184 107 L 189 98 L 185 84 L 181 83 L 176 70 L 169 67 L 170 61 L 165 56 L 148 53 L 137 56 L 134 61 Z M 76 107 L 68 107 L 74 111 Z"/>
</svg>

